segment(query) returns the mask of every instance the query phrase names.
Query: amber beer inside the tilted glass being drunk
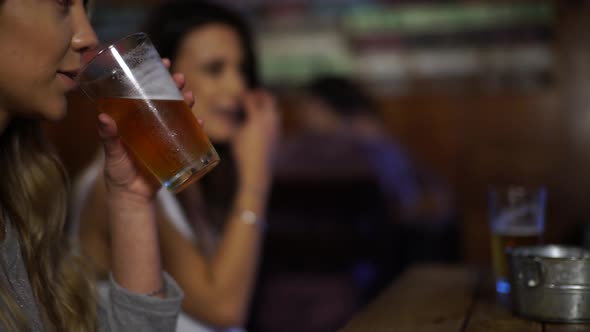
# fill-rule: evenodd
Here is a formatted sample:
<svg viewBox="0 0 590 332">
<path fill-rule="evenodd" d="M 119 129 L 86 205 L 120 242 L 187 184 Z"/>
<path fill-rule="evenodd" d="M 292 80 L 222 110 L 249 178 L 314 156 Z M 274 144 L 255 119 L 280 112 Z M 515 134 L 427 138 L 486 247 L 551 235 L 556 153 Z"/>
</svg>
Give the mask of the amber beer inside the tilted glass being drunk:
<svg viewBox="0 0 590 332">
<path fill-rule="evenodd" d="M 102 98 L 98 111 L 115 120 L 123 143 L 169 190 L 184 189 L 219 161 L 183 100 Z"/>
</svg>

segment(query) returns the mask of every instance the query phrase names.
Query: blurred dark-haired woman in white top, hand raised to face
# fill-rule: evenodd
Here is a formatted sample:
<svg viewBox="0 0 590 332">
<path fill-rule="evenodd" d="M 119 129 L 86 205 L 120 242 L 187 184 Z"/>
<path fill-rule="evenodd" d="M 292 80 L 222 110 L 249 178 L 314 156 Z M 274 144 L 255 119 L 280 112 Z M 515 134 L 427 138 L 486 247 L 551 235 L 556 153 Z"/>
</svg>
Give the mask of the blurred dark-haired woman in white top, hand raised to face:
<svg viewBox="0 0 590 332">
<path fill-rule="evenodd" d="M 244 324 L 256 276 L 271 158 L 279 121 L 273 98 L 258 88 L 256 63 L 243 19 L 201 1 L 171 1 L 154 9 L 146 32 L 195 96 L 193 113 L 221 162 L 174 196 L 158 196 L 164 267 L 185 291 L 178 331 Z M 104 225 L 101 163 L 77 185 L 74 224 L 99 277 L 113 264 Z"/>
</svg>

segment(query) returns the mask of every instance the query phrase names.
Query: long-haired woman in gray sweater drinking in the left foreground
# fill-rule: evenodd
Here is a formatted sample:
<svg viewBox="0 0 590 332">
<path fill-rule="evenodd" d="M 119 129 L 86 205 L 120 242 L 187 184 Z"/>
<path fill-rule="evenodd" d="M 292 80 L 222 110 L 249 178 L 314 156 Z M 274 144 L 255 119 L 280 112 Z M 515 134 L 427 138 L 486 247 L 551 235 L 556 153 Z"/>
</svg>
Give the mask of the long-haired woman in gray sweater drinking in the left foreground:
<svg viewBox="0 0 590 332">
<path fill-rule="evenodd" d="M 0 1 L 0 331 L 169 331 L 176 324 L 182 292 L 161 270 L 157 188 L 137 172 L 104 114 L 112 274 L 100 301 L 63 235 L 67 180 L 40 122 L 65 115 L 81 55 L 97 44 L 85 6 Z"/>
</svg>

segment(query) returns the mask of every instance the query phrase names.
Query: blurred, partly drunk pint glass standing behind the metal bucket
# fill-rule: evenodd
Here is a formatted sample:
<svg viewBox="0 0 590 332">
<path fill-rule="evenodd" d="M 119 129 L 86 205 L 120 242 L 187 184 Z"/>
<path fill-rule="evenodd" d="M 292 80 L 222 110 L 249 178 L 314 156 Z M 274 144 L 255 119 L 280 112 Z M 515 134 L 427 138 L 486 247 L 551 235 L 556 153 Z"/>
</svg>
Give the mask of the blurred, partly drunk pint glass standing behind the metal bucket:
<svg viewBox="0 0 590 332">
<path fill-rule="evenodd" d="M 542 241 L 546 195 L 543 187 L 497 186 L 490 190 L 492 262 L 498 293 L 510 293 L 506 249 Z"/>
</svg>

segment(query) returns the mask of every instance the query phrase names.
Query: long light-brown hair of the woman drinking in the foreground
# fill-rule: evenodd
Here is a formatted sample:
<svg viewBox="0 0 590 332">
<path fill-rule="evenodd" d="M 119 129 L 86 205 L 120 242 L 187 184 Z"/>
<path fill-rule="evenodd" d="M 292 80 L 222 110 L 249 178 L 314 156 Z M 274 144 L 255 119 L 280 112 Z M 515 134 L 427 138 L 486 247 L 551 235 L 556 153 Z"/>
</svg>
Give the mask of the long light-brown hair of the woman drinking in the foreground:
<svg viewBox="0 0 590 332">
<path fill-rule="evenodd" d="M 96 330 L 90 273 L 64 236 L 67 176 L 41 134 L 39 121 L 13 119 L 0 135 L 0 208 L 19 234 L 41 319 L 48 331 Z M 8 222 L 3 220 L 3 222 Z M 0 322 L 28 330 L 7 285 L 0 284 Z"/>
</svg>

